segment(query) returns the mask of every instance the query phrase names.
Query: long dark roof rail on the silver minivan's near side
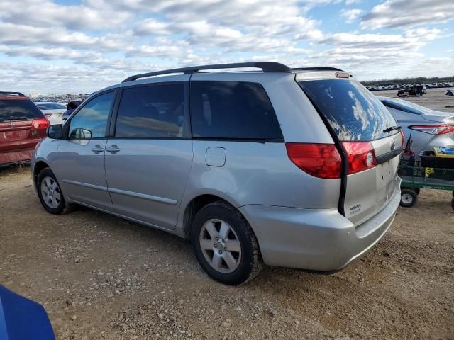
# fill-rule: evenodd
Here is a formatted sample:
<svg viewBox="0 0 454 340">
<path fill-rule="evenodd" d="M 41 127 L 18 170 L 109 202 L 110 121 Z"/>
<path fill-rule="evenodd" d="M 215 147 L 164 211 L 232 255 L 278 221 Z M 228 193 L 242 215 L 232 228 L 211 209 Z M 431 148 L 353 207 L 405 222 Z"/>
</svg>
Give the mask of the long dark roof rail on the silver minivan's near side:
<svg viewBox="0 0 454 340">
<path fill-rule="evenodd" d="M 192 74 L 204 69 L 240 69 L 244 67 L 257 67 L 262 69 L 263 72 L 292 72 L 292 69 L 284 64 L 279 62 L 236 62 L 233 64 L 213 64 L 213 65 L 201 65 L 201 66 L 192 66 L 192 67 L 182 67 L 179 69 L 165 69 L 162 71 L 148 72 L 143 74 L 135 74 L 123 80 L 123 83 L 126 81 L 133 81 L 139 78 L 146 78 L 152 76 L 159 76 L 161 74 L 172 74 L 172 73 L 184 73 Z"/>
</svg>

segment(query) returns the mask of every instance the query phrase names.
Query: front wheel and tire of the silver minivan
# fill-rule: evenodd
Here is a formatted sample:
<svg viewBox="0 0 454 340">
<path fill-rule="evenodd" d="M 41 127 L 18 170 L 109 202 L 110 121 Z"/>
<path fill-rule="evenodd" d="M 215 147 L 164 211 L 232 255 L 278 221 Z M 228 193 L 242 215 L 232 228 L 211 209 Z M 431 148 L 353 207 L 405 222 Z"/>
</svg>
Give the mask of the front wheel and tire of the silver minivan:
<svg viewBox="0 0 454 340">
<path fill-rule="evenodd" d="M 40 171 L 36 189 L 43 208 L 51 214 L 62 215 L 72 210 L 73 205 L 66 202 L 60 184 L 50 168 Z"/>
</svg>

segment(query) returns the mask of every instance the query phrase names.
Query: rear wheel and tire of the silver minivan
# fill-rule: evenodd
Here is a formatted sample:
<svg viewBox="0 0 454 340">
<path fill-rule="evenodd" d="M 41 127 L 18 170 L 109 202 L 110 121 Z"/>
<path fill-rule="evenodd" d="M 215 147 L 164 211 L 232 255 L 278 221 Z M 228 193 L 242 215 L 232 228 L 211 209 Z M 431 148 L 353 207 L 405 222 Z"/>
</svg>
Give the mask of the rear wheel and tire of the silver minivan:
<svg viewBox="0 0 454 340">
<path fill-rule="evenodd" d="M 262 270 L 262 256 L 249 223 L 221 200 L 201 208 L 192 223 L 192 246 L 204 271 L 226 285 L 252 280 Z"/>
</svg>

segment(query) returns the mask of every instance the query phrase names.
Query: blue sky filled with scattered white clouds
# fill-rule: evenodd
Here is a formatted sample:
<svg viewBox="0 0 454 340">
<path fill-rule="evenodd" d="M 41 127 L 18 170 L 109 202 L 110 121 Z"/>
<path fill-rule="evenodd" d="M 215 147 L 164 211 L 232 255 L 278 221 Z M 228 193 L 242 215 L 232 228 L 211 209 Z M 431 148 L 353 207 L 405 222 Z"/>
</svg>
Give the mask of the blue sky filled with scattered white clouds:
<svg viewBox="0 0 454 340">
<path fill-rule="evenodd" d="M 268 60 L 360 80 L 454 76 L 454 0 L 1 0 L 0 91 L 90 93 Z"/>
</svg>

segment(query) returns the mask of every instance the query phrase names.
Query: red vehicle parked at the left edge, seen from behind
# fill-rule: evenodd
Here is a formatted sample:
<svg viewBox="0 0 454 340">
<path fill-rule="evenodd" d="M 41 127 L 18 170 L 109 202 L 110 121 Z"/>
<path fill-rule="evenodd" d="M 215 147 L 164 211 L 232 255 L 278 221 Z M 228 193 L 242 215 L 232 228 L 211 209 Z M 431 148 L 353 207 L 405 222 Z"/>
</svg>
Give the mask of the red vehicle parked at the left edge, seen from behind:
<svg viewBox="0 0 454 340">
<path fill-rule="evenodd" d="M 0 91 L 0 165 L 28 162 L 49 125 L 30 98 Z"/>
</svg>

